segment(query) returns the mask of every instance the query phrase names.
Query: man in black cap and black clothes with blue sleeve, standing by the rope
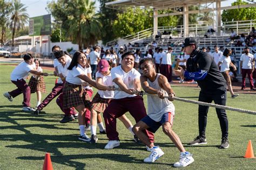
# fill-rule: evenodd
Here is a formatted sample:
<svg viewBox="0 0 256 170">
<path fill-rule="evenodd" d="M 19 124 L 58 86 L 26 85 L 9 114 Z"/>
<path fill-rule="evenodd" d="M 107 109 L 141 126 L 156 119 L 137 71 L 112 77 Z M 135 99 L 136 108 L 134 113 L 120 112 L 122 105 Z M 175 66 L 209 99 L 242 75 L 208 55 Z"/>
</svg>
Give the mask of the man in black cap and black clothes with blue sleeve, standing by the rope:
<svg viewBox="0 0 256 170">
<path fill-rule="evenodd" d="M 199 93 L 199 101 L 205 103 L 212 103 L 218 105 L 226 105 L 226 81 L 218 69 L 217 64 L 207 52 L 203 52 L 197 46 L 197 41 L 193 37 L 185 38 L 184 43 L 185 52 L 190 55 L 187 59 L 186 70 L 182 67 L 178 67 L 178 70 L 174 70 L 177 76 L 185 77 L 186 79 L 196 80 L 201 88 Z M 198 107 L 198 125 L 199 135 L 190 145 L 207 144 L 206 142 L 206 124 L 208 106 Z M 222 132 L 222 140 L 219 148 L 228 148 L 228 120 L 226 111 L 216 108 L 216 112 L 220 122 L 220 128 Z"/>
</svg>

